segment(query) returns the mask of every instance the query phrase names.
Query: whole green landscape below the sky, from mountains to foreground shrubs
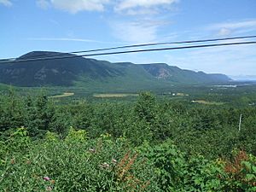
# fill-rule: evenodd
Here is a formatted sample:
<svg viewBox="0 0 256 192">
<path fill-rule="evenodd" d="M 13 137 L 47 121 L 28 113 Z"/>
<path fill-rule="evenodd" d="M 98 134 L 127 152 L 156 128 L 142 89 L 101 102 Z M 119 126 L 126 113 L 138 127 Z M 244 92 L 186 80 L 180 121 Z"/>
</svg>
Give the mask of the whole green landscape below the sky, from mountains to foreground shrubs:
<svg viewBox="0 0 256 192">
<path fill-rule="evenodd" d="M 32 52 L 20 58 L 39 53 L 53 54 Z M 21 175 L 29 182 L 11 183 L 20 186 L 21 182 L 25 189 L 40 183 L 33 187 L 37 191 L 49 186 L 56 191 L 75 190 L 69 182 L 61 182 L 66 177 L 62 172 L 83 183 L 79 189 L 97 185 L 102 189 L 108 183 L 113 187 L 107 191 L 125 191 L 132 189 L 129 183 L 139 179 L 140 191 L 194 191 L 198 184 L 183 179 L 201 177 L 218 182 L 198 182 L 207 183 L 205 191 L 254 188 L 253 178 L 245 183 L 227 171 L 230 162 L 241 155 L 243 162 L 255 167 L 254 82 L 159 63 L 137 65 L 85 58 L 37 62 L 0 64 L 0 173 L 7 177 L 3 181 L 0 177 L 0 190 L 10 189 L 11 179 Z M 166 165 L 173 168 L 163 168 Z M 253 169 L 239 166 L 245 172 L 242 177 L 254 177 Z M 40 177 L 31 177 L 34 169 Z M 163 184 L 165 178 L 157 170 L 176 181 Z M 82 179 L 87 177 L 85 172 L 90 183 Z M 94 172 L 98 172 L 96 176 Z M 239 186 L 230 186 L 232 182 Z"/>
</svg>

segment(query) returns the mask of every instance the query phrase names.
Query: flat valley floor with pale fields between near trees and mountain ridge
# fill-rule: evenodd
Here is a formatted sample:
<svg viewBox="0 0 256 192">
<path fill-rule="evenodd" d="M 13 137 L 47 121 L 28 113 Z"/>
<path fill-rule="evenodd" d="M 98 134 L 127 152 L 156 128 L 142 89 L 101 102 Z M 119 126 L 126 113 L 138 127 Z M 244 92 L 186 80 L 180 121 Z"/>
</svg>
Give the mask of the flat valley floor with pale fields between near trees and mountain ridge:
<svg viewBox="0 0 256 192">
<path fill-rule="evenodd" d="M 48 98 L 58 100 L 60 104 L 85 99 L 94 102 L 135 102 L 143 90 L 88 90 L 85 87 L 15 87 L 0 84 L 0 93 L 9 94 L 15 90 L 19 96 L 36 96 L 45 94 Z M 240 84 L 236 88 L 226 89 L 209 86 L 172 86 L 169 89 L 148 90 L 158 99 L 166 98 L 172 102 L 199 103 L 201 105 L 253 106 L 256 102 L 256 85 Z M 192 102 L 194 101 L 194 102 Z"/>
</svg>

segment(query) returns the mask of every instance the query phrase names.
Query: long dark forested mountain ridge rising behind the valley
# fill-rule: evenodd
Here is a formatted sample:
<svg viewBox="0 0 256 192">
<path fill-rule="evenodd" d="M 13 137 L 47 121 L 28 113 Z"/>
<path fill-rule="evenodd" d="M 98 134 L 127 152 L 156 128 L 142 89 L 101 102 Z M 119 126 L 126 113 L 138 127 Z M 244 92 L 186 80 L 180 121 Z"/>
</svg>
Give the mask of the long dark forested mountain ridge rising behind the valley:
<svg viewBox="0 0 256 192">
<path fill-rule="evenodd" d="M 20 59 L 68 55 L 57 52 L 33 51 Z M 136 86 L 151 88 L 172 84 L 224 83 L 223 74 L 196 73 L 167 64 L 111 63 L 84 57 L 46 61 L 20 61 L 0 64 L 0 83 L 17 86 Z"/>
</svg>

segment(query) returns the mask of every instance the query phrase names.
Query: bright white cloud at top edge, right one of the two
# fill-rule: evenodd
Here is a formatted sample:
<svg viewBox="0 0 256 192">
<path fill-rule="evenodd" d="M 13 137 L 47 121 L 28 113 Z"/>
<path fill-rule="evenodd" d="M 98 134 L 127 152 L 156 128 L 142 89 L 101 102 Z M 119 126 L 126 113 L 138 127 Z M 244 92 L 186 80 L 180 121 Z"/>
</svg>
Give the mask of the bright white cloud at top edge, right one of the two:
<svg viewBox="0 0 256 192">
<path fill-rule="evenodd" d="M 177 3 L 177 0 L 124 0 L 121 1 L 115 9 L 120 11 L 138 7 L 151 8 L 159 5 L 171 5 L 172 3 Z"/>
</svg>

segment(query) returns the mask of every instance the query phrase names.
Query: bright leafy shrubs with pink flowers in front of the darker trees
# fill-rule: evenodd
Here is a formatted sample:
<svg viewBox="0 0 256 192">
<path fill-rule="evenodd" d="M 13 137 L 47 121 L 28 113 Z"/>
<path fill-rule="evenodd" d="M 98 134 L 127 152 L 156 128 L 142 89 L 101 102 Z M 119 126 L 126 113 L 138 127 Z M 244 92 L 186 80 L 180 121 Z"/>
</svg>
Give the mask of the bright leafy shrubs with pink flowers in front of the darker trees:
<svg viewBox="0 0 256 192">
<path fill-rule="evenodd" d="M 49 131 L 40 142 L 27 135 L 17 129 L 1 145 L 2 191 L 255 190 L 256 157 L 242 151 L 234 160 L 212 161 L 172 141 L 132 148 L 125 137 L 90 139 L 73 128 L 64 140 Z"/>
</svg>

